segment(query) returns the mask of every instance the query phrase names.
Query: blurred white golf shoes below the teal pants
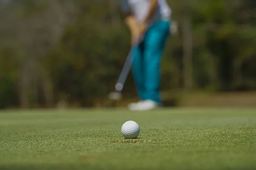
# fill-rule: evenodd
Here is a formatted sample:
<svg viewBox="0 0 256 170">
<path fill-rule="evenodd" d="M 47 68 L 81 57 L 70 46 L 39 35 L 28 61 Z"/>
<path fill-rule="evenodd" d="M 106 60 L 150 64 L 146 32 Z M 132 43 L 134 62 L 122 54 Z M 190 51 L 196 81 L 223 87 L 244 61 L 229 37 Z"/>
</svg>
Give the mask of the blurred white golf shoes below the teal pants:
<svg viewBox="0 0 256 170">
<path fill-rule="evenodd" d="M 152 100 L 144 100 L 132 105 L 128 105 L 129 110 L 131 111 L 148 111 L 155 108 L 160 108 L 162 105 L 154 102 Z"/>
</svg>

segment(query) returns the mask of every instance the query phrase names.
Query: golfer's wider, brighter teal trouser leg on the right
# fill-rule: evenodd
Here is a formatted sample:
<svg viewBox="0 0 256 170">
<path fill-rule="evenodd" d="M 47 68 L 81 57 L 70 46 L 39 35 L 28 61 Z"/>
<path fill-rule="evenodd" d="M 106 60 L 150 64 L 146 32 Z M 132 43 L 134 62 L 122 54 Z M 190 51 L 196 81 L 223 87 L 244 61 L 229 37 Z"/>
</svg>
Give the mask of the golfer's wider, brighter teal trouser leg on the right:
<svg viewBox="0 0 256 170">
<path fill-rule="evenodd" d="M 154 102 L 161 103 L 160 74 L 161 58 L 169 36 L 169 21 L 160 21 L 148 29 L 145 35 L 144 71 L 145 71 L 145 97 Z"/>
</svg>

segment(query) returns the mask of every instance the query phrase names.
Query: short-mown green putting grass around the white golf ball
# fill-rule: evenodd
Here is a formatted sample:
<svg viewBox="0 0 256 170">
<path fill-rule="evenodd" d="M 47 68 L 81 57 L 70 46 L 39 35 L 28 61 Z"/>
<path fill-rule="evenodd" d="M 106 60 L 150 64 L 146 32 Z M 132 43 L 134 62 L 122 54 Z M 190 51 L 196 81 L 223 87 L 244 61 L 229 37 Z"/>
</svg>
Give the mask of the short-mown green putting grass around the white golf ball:
<svg viewBox="0 0 256 170">
<path fill-rule="evenodd" d="M 128 120 L 139 139 L 123 139 Z M 256 109 L 2 111 L 7 169 L 253 170 Z"/>
</svg>

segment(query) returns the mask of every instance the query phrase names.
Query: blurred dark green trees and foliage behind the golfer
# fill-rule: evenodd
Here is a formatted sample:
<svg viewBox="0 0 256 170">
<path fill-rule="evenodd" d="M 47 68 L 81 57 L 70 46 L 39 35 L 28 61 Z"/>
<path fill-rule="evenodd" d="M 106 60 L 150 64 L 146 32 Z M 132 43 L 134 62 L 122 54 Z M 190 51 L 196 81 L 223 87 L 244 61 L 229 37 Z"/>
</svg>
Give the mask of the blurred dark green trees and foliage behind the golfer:
<svg viewBox="0 0 256 170">
<path fill-rule="evenodd" d="M 256 90 L 254 0 L 168 2 L 162 90 Z M 1 0 L 0 20 L 0 108 L 93 107 L 113 90 L 130 46 L 117 0 Z"/>
</svg>

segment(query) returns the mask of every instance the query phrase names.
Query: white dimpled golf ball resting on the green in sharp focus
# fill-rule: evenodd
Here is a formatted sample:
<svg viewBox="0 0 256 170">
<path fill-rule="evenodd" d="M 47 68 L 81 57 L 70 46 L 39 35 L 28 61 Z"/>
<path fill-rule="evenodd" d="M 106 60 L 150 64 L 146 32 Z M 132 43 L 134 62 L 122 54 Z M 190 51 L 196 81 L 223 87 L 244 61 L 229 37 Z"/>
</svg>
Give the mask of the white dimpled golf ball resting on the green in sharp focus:
<svg viewBox="0 0 256 170">
<path fill-rule="evenodd" d="M 127 121 L 122 125 L 121 132 L 125 139 L 134 139 L 140 134 L 140 126 L 134 121 Z"/>
</svg>

